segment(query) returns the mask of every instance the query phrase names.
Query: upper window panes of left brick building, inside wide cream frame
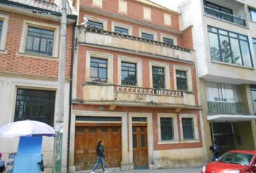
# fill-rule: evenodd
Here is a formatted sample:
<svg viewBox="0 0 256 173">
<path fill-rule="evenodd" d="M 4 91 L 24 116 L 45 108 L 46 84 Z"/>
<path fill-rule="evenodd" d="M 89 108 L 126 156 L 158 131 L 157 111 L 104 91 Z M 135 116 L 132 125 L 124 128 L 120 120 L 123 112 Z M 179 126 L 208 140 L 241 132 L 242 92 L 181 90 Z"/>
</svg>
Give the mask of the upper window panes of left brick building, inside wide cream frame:
<svg viewBox="0 0 256 173">
<path fill-rule="evenodd" d="M 52 56 L 54 31 L 28 27 L 25 52 L 43 56 Z"/>
</svg>

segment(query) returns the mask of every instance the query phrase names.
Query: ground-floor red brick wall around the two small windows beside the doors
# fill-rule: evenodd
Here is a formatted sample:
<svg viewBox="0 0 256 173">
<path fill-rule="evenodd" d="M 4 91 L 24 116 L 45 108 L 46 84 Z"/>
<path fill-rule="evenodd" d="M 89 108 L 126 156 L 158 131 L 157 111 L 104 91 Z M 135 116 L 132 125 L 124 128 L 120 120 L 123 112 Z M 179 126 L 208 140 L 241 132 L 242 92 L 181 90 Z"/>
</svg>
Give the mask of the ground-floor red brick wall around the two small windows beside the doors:
<svg viewBox="0 0 256 173">
<path fill-rule="evenodd" d="M 202 147 L 202 134 L 201 134 L 201 127 L 200 127 L 200 115 L 198 110 L 182 110 L 179 112 L 180 114 L 183 113 L 190 113 L 197 115 L 197 125 L 198 125 L 198 133 L 199 133 L 199 140 L 198 143 L 172 143 L 172 144 L 158 144 L 158 113 L 175 113 L 174 109 L 171 108 L 158 108 L 158 107 L 116 107 L 115 110 L 108 110 L 108 106 L 103 106 L 103 110 L 98 109 L 99 106 L 97 105 L 73 105 L 73 110 L 87 110 L 87 111 L 98 111 L 98 112 L 149 112 L 153 115 L 153 141 L 154 141 L 154 150 L 166 150 L 166 149 L 177 149 L 177 148 L 199 148 Z M 102 106 L 101 106 L 102 107 Z M 179 127 L 179 115 L 178 115 L 178 132 L 179 138 L 181 138 L 181 132 Z"/>
</svg>

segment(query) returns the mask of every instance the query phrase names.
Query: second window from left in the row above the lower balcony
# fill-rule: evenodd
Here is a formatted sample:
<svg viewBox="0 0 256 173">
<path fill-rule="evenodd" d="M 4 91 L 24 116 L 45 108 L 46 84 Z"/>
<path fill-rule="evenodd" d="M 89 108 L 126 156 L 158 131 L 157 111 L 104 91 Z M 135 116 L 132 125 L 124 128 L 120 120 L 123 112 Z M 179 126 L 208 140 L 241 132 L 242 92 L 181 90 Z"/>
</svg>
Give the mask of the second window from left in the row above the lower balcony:
<svg viewBox="0 0 256 173">
<path fill-rule="evenodd" d="M 136 63 L 121 62 L 121 84 L 137 85 Z"/>
</svg>

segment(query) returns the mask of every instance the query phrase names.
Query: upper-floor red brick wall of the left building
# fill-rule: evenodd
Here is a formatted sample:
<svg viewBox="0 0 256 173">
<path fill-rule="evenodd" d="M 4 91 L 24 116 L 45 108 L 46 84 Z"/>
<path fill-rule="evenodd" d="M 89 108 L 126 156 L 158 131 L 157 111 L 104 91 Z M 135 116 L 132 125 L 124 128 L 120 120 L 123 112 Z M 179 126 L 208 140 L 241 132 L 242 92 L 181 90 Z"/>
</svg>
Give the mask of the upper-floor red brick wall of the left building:
<svg viewBox="0 0 256 173">
<path fill-rule="evenodd" d="M 48 23 L 53 25 L 60 25 L 59 22 L 52 22 L 46 19 L 39 19 L 16 14 L 13 12 L 4 12 L 0 10 L 1 14 L 9 16 L 8 33 L 6 50 L 7 54 L 0 53 L 0 72 L 13 74 L 27 74 L 34 76 L 58 76 L 59 61 L 50 58 L 31 58 L 25 56 L 17 56 L 20 48 L 20 39 L 22 37 L 23 19 L 32 20 L 35 22 Z M 66 77 L 69 78 L 70 60 L 72 54 L 72 25 L 67 27 L 67 53 L 66 53 Z M 58 54 L 59 55 L 59 54 Z M 35 55 L 36 56 L 36 55 Z"/>
</svg>

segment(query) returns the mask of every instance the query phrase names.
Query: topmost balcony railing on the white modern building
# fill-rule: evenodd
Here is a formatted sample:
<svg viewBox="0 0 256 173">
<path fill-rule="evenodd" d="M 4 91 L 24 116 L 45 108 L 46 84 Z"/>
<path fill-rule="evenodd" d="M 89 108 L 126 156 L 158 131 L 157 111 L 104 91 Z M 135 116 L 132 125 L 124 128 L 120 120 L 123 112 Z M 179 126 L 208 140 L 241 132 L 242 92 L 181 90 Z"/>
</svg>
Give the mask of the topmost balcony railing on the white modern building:
<svg viewBox="0 0 256 173">
<path fill-rule="evenodd" d="M 237 25 L 246 26 L 245 25 L 245 19 L 241 19 L 239 17 L 235 17 L 235 16 L 232 16 L 230 14 L 220 12 L 216 9 L 211 9 L 207 6 L 205 6 L 205 14 L 207 14 L 209 16 L 212 16 L 212 17 L 216 17 L 218 19 L 223 19 L 223 20 L 235 23 Z"/>
</svg>

